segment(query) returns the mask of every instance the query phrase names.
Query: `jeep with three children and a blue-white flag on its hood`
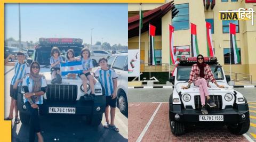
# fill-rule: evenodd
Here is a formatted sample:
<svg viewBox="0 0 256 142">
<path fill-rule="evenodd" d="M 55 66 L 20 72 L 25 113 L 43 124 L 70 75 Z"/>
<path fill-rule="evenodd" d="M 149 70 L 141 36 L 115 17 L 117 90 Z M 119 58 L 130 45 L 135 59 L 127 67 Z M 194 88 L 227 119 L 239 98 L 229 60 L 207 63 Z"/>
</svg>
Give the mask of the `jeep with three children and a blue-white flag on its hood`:
<svg viewBox="0 0 256 142">
<path fill-rule="evenodd" d="M 70 48 L 74 50 L 75 56 L 81 54 L 82 41 L 82 39 L 77 38 L 40 38 L 32 60 L 27 60 L 27 62 L 38 61 L 41 65 L 40 72 L 44 74 L 47 81 L 47 91 L 43 96 L 43 105 L 39 107 L 39 114 L 82 115 L 86 116 L 86 123 L 98 126 L 101 124 L 102 114 L 106 107 L 106 96 L 102 92 L 100 82 L 95 83 L 95 98 L 90 101 L 84 99 L 84 88 L 79 77 L 67 79 L 66 76 L 62 76 L 61 84 L 51 83 L 50 57 L 52 47 L 59 47 L 62 59 L 65 60 L 65 53 Z M 28 124 L 30 116 L 20 90 L 21 87 L 18 91 L 20 120 L 23 124 Z M 87 93 L 91 93 L 89 82 L 87 83 Z"/>
</svg>

